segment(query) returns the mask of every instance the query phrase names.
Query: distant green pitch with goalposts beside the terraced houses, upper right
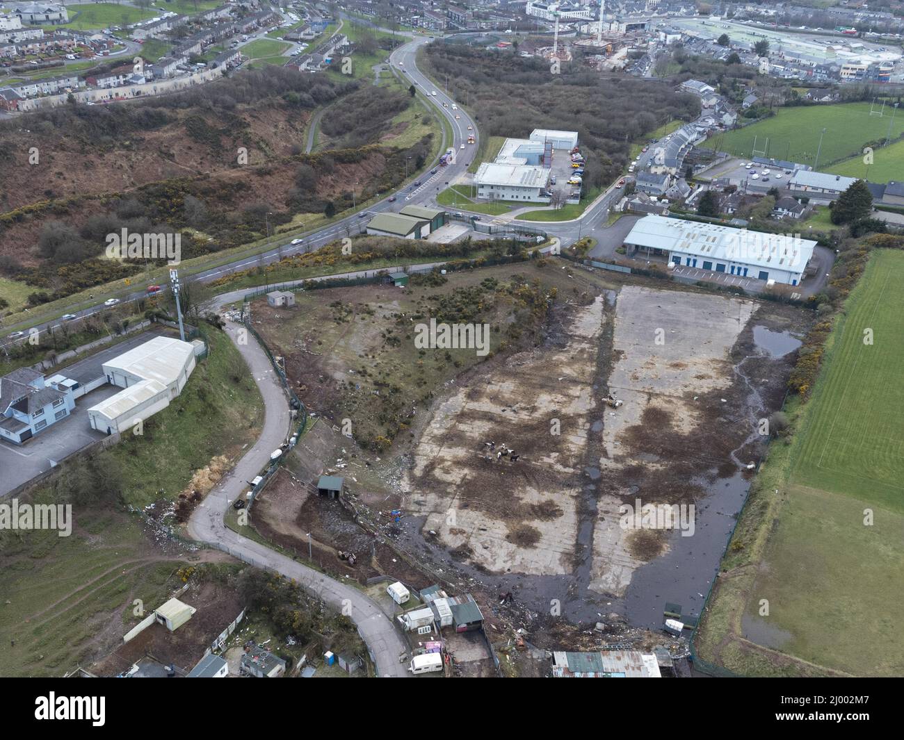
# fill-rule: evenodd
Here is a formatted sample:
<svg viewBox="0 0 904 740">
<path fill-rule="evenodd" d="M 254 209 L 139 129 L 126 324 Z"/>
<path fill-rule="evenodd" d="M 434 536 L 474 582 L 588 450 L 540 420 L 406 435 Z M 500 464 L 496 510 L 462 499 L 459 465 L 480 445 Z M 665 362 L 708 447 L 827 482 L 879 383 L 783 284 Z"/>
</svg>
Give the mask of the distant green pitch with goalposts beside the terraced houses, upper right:
<svg viewBox="0 0 904 740">
<path fill-rule="evenodd" d="M 711 136 L 703 145 L 718 146 L 721 151 L 749 158 L 753 156 L 756 137 L 758 152 L 765 149 L 767 156 L 812 165 L 820 132 L 825 128 L 819 154 L 819 161 L 825 167 L 837 160 L 862 155 L 863 145 L 884 139 L 889 126 L 892 139 L 900 136 L 904 132 L 904 115 L 899 111 L 892 122 L 890 108 L 886 106 L 885 115 L 871 116 L 870 103 L 778 108 L 774 117 Z"/>
</svg>

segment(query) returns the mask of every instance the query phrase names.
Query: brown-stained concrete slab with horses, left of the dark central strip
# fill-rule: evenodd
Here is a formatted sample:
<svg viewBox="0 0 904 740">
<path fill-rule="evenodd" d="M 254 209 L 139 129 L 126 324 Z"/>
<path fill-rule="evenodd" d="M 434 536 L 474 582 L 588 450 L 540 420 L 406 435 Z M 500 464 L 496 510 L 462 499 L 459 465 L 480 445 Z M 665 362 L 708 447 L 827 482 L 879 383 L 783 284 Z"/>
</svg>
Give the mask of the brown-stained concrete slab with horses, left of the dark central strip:
<svg viewBox="0 0 904 740">
<path fill-rule="evenodd" d="M 576 311 L 555 350 L 517 354 L 438 406 L 404 508 L 457 557 L 495 573 L 572 572 L 603 322 L 600 296 Z M 562 420 L 553 432 L 552 418 Z M 521 459 L 500 459 L 486 441 Z"/>
</svg>

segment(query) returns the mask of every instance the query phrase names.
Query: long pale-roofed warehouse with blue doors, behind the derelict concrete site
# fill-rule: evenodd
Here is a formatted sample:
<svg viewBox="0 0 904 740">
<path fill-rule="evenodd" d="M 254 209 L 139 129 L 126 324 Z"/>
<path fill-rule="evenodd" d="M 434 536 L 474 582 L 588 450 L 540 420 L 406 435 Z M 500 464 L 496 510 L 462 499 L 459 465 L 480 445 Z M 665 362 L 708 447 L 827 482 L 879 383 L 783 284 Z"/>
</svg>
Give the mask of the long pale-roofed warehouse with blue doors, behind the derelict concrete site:
<svg viewBox="0 0 904 740">
<path fill-rule="evenodd" d="M 813 257 L 816 242 L 787 234 L 645 216 L 628 232 L 625 245 L 667 255 L 674 265 L 796 286 Z"/>
</svg>

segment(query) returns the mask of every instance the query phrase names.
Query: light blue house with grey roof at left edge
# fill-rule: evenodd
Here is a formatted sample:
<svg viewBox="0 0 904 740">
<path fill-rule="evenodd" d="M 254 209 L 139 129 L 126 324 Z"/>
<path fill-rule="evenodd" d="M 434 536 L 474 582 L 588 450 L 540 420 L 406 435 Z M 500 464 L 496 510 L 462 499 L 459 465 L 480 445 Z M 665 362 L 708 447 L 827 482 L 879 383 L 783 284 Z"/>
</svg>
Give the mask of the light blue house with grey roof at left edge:
<svg viewBox="0 0 904 740">
<path fill-rule="evenodd" d="M 22 445 L 73 408 L 71 388 L 52 385 L 31 368 L 13 370 L 0 378 L 0 439 Z"/>
</svg>

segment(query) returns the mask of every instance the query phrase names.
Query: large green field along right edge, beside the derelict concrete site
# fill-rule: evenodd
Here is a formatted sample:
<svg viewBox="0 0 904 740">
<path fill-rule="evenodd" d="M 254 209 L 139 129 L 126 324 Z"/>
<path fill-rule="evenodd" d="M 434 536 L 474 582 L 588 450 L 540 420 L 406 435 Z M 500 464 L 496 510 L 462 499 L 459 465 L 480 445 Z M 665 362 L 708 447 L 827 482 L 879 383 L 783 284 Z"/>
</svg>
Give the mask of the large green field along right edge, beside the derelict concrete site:
<svg viewBox="0 0 904 740">
<path fill-rule="evenodd" d="M 902 281 L 904 252 L 873 251 L 812 397 L 791 405 L 796 433 L 758 473 L 697 638 L 702 660 L 746 675 L 904 672 Z"/>
</svg>

